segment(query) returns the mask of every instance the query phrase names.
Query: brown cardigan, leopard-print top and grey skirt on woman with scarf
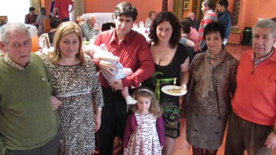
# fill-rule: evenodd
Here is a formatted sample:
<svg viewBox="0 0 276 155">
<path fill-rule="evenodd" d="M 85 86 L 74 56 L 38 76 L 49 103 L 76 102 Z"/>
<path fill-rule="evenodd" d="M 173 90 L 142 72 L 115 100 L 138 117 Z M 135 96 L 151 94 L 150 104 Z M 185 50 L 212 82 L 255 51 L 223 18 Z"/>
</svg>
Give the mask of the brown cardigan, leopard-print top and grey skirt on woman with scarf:
<svg viewBox="0 0 276 155">
<path fill-rule="evenodd" d="M 213 69 L 213 91 L 209 91 L 208 97 L 203 97 L 200 94 L 200 81 L 209 63 L 206 52 L 199 53 L 190 67 L 190 85 L 185 102 L 186 140 L 195 148 L 215 150 L 223 140 L 231 108 L 231 93 L 236 88 L 238 60 L 226 54 L 223 62 Z"/>
</svg>

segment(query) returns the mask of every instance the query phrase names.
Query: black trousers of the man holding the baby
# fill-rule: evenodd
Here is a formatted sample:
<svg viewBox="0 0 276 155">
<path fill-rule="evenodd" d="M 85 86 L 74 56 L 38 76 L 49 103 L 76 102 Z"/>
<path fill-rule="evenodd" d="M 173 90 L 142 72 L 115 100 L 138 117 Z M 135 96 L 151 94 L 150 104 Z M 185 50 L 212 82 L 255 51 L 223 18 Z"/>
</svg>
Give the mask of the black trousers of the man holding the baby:
<svg viewBox="0 0 276 155">
<path fill-rule="evenodd" d="M 123 140 L 127 112 L 125 98 L 121 91 L 104 88 L 104 107 L 102 109 L 102 123 L 100 127 L 100 155 L 112 155 L 114 137 Z"/>
</svg>

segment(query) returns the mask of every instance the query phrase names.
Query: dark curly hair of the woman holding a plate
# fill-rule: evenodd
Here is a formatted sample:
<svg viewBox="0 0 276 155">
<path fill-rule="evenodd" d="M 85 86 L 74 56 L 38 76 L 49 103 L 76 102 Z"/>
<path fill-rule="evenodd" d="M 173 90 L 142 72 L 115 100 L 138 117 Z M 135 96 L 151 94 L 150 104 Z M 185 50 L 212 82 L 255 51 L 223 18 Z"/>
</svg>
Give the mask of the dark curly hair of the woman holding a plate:
<svg viewBox="0 0 276 155">
<path fill-rule="evenodd" d="M 153 20 L 151 24 L 149 37 L 154 43 L 158 44 L 156 28 L 157 28 L 157 25 L 159 25 L 164 21 L 170 22 L 170 24 L 173 27 L 173 33 L 170 38 L 169 44 L 171 45 L 172 48 L 174 48 L 178 44 L 179 39 L 181 38 L 181 32 L 180 32 L 181 26 L 180 26 L 179 20 L 175 17 L 174 13 L 172 12 L 162 11 L 157 14 L 156 18 Z"/>
</svg>

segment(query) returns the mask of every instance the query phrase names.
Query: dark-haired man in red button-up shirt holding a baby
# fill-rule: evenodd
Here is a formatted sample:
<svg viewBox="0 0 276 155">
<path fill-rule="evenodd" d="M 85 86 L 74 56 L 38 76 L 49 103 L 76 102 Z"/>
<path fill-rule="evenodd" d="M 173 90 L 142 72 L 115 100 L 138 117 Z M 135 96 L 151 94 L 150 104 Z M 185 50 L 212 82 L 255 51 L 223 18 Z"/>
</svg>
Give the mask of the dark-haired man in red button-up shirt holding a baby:
<svg viewBox="0 0 276 155">
<path fill-rule="evenodd" d="M 100 154 L 112 155 L 113 140 L 119 136 L 123 140 L 127 105 L 120 90 L 123 87 L 139 84 L 149 78 L 154 72 L 154 61 L 145 37 L 131 30 L 137 17 L 137 10 L 129 2 L 119 3 L 115 7 L 116 28 L 102 32 L 95 40 L 95 45 L 105 44 L 113 55 L 119 57 L 119 62 L 125 68 L 131 68 L 133 74 L 123 79 L 112 79 L 110 83 L 99 72 L 98 78 L 102 85 L 104 107 L 100 127 Z M 113 75 L 111 70 L 117 70 L 116 65 L 100 60 L 94 60 L 100 70 Z"/>
</svg>

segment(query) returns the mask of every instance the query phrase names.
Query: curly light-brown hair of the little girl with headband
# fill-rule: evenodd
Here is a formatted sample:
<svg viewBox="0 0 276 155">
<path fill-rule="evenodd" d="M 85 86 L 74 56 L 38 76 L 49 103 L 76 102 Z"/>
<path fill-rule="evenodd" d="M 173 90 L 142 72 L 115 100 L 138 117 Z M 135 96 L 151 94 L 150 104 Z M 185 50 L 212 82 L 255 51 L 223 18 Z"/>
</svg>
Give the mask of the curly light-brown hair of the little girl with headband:
<svg viewBox="0 0 276 155">
<path fill-rule="evenodd" d="M 145 90 L 146 89 L 146 90 Z M 158 118 L 159 116 L 162 115 L 162 109 L 154 95 L 154 92 L 152 92 L 150 89 L 145 88 L 145 87 L 141 87 L 137 90 L 135 90 L 132 94 L 133 98 L 135 100 L 138 100 L 139 97 L 150 97 L 151 98 L 151 105 L 149 108 L 149 112 L 155 116 L 156 118 Z M 137 104 L 132 106 L 132 110 L 133 111 L 137 111 L 138 107 Z"/>
</svg>

